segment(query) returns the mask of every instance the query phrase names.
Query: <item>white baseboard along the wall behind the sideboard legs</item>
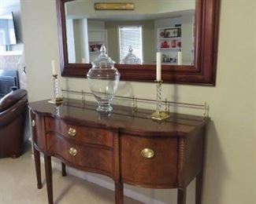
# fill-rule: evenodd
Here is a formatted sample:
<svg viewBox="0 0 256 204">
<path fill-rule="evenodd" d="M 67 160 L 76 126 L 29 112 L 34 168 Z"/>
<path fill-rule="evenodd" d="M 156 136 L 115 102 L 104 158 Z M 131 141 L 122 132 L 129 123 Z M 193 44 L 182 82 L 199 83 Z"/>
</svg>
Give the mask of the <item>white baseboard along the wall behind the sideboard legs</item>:
<svg viewBox="0 0 256 204">
<path fill-rule="evenodd" d="M 32 157 L 33 157 L 33 155 L 32 155 Z M 43 159 L 41 159 L 41 161 L 43 162 Z M 54 169 L 58 169 L 61 171 L 61 162 L 52 160 L 52 167 Z M 83 171 L 80 171 L 77 169 L 73 169 L 72 167 L 69 167 L 69 166 L 67 166 L 67 173 L 71 174 L 72 176 L 79 177 L 83 180 L 87 180 L 93 184 L 97 184 L 98 186 L 101 186 L 102 188 L 107 188 L 111 191 L 114 191 L 114 189 L 115 189 L 113 182 L 110 182 L 107 180 L 102 180 L 99 177 L 91 176 L 89 173 L 86 173 L 86 172 L 83 172 Z M 124 185 L 124 195 L 129 198 L 138 200 L 139 202 L 143 202 L 143 203 L 165 204 L 165 202 L 161 202 L 157 199 L 152 199 L 147 195 L 142 195 L 136 191 L 132 191 L 131 189 L 125 188 L 125 185 Z"/>
</svg>

